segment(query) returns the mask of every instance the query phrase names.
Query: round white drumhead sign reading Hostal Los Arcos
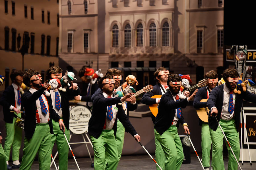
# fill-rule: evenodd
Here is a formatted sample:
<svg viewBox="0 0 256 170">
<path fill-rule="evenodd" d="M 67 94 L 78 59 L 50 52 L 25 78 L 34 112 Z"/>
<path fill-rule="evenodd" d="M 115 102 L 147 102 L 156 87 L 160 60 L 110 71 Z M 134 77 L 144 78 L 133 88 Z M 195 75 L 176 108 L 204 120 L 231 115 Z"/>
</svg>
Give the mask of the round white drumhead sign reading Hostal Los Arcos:
<svg viewBox="0 0 256 170">
<path fill-rule="evenodd" d="M 70 108 L 69 129 L 74 134 L 83 134 L 88 130 L 88 122 L 92 116 L 85 106 L 77 105 Z"/>
</svg>

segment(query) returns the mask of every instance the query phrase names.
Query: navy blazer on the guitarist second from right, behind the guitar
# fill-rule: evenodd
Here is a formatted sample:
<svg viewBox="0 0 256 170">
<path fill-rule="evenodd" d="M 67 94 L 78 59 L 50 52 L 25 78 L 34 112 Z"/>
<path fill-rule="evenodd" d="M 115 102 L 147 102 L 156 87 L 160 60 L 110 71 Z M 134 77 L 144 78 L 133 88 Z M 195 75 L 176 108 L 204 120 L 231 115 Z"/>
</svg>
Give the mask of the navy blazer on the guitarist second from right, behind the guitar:
<svg viewBox="0 0 256 170">
<path fill-rule="evenodd" d="M 207 107 L 207 102 L 200 102 L 202 99 L 207 99 L 207 88 L 202 87 L 198 89 L 197 94 L 195 95 L 193 106 L 197 108 Z M 203 121 L 199 119 L 199 125 L 202 126 Z"/>
</svg>

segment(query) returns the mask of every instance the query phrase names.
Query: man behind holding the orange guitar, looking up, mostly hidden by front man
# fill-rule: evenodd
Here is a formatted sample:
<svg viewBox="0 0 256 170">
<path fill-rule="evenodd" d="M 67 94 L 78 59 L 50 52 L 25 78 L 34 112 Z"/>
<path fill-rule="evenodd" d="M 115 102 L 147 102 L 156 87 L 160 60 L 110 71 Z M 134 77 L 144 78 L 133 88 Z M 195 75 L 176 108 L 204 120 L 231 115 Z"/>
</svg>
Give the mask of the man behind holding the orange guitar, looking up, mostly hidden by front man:
<svg viewBox="0 0 256 170">
<path fill-rule="evenodd" d="M 146 105 L 152 105 L 152 104 L 158 104 L 160 102 L 160 98 L 151 98 L 154 95 L 163 95 L 166 93 L 166 88 L 168 87 L 167 85 L 167 79 L 169 76 L 169 71 L 164 68 L 160 67 L 154 72 L 154 79 L 156 80 L 156 85 L 153 86 L 153 90 L 151 92 L 145 93 L 142 96 L 141 103 L 146 104 Z M 153 124 L 155 124 L 155 119 L 156 117 L 151 113 L 151 119 Z M 164 156 L 164 151 L 155 137 L 155 145 L 156 145 L 156 150 L 155 150 L 155 155 L 156 155 L 156 162 L 162 169 L 164 169 L 165 165 L 165 156 Z M 160 170 L 158 166 L 156 166 L 157 170 Z"/>
</svg>

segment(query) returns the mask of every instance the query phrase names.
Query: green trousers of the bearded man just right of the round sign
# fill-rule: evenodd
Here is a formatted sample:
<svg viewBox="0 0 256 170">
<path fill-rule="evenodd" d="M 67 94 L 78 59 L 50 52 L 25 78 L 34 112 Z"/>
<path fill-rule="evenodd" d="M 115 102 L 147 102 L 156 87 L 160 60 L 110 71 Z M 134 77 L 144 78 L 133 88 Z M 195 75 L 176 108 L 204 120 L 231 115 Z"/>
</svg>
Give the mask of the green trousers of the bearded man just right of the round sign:
<svg viewBox="0 0 256 170">
<path fill-rule="evenodd" d="M 94 169 L 104 170 L 105 158 L 108 158 L 106 170 L 115 170 L 118 165 L 117 145 L 114 130 L 103 130 L 96 139 L 90 135 L 94 150 Z"/>
</svg>

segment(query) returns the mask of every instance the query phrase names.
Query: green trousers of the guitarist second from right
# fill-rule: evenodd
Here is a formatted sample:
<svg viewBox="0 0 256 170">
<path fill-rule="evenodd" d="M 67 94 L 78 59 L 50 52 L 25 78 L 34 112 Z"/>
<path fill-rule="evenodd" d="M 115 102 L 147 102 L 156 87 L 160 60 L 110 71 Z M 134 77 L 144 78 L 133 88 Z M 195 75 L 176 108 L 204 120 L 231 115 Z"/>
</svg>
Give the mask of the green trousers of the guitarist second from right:
<svg viewBox="0 0 256 170">
<path fill-rule="evenodd" d="M 208 123 L 202 124 L 201 128 L 201 148 L 202 148 L 202 164 L 204 167 L 210 167 L 210 150 L 212 145 L 212 139 L 209 131 Z"/>
</svg>

